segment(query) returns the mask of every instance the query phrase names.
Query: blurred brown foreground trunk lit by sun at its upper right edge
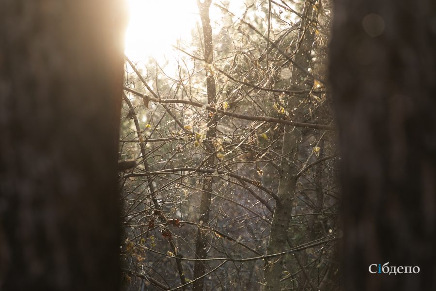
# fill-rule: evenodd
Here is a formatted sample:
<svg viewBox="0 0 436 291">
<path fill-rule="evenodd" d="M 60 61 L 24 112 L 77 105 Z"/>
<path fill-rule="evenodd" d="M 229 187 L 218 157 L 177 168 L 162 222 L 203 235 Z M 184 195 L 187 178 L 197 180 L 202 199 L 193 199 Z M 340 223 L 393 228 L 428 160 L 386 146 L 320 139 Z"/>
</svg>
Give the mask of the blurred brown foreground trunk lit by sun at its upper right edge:
<svg viewBox="0 0 436 291">
<path fill-rule="evenodd" d="M 0 289 L 118 290 L 123 1 L 0 2 Z"/>
</svg>

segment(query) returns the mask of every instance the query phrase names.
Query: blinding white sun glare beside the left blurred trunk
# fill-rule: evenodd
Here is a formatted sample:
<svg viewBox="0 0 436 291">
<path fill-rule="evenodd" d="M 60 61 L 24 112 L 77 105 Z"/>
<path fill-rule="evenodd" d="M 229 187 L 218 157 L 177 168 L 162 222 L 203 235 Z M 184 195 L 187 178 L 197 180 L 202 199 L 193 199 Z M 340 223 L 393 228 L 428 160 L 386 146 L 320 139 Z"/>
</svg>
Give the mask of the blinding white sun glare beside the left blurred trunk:
<svg viewBox="0 0 436 291">
<path fill-rule="evenodd" d="M 195 0 L 128 0 L 128 4 L 125 54 L 129 58 L 162 60 L 178 39 L 190 41 L 198 18 Z"/>
</svg>

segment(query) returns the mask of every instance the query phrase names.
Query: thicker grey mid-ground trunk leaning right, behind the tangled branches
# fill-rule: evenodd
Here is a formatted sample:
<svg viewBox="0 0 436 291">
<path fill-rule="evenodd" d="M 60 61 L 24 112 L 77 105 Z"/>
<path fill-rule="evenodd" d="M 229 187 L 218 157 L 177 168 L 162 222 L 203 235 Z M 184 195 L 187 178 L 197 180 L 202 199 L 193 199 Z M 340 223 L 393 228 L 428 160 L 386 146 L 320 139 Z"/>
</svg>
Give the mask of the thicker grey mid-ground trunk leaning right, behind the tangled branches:
<svg viewBox="0 0 436 291">
<path fill-rule="evenodd" d="M 311 4 L 306 1 L 303 15 L 311 15 Z M 296 49 L 291 87 L 293 89 L 310 89 L 304 83 L 307 74 L 297 67 L 305 68 L 307 70 L 307 60 L 311 58 L 311 46 L 313 43 L 313 35 L 310 32 L 310 23 L 307 18 L 301 20 L 301 27 L 299 33 L 299 46 Z M 300 41 L 301 40 L 301 41 Z M 296 96 L 288 97 L 287 100 L 287 113 L 292 113 L 292 109 L 299 105 L 300 99 Z M 302 113 L 294 111 L 290 115 L 292 119 L 301 117 Z M 298 129 L 286 125 L 283 134 L 282 145 L 282 158 L 280 162 L 280 177 L 279 177 L 279 199 L 274 208 L 274 214 L 271 224 L 271 233 L 269 235 L 268 247 L 266 254 L 275 254 L 284 251 L 287 246 L 288 227 L 292 217 L 292 204 L 294 193 L 296 189 L 296 174 L 298 172 L 297 166 L 294 164 L 293 159 L 298 157 L 298 143 L 301 139 L 301 133 Z M 264 272 L 264 290 L 265 291 L 278 291 L 280 290 L 280 277 L 282 276 L 283 258 L 272 258 L 265 262 Z"/>
</svg>

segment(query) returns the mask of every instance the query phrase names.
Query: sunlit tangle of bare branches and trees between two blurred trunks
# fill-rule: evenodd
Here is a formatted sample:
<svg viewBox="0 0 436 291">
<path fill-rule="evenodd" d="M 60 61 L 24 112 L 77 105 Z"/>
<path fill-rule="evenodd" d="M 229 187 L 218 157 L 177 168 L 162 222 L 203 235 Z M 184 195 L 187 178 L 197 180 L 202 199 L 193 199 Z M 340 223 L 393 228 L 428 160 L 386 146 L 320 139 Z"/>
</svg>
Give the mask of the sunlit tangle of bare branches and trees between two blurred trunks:
<svg viewBox="0 0 436 291">
<path fill-rule="evenodd" d="M 126 290 L 339 288 L 331 3 L 237 2 L 198 3 L 167 59 L 126 59 Z"/>
</svg>

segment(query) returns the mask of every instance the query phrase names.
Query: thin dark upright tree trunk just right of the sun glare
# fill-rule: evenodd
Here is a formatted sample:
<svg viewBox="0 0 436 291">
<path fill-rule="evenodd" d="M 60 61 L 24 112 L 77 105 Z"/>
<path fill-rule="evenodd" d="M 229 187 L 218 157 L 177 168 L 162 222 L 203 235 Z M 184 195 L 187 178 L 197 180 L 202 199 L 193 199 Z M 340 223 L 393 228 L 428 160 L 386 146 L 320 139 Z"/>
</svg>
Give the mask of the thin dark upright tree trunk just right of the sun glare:
<svg viewBox="0 0 436 291">
<path fill-rule="evenodd" d="M 214 50 L 212 44 L 212 27 L 210 26 L 210 18 L 209 18 L 209 8 L 211 4 L 211 0 L 204 0 L 203 3 L 197 1 L 198 8 L 200 10 L 200 17 L 202 19 L 202 28 L 203 28 L 203 38 L 204 38 L 204 59 L 206 61 L 206 87 L 207 87 L 207 103 L 212 104 L 215 101 L 216 96 L 216 87 L 215 87 L 215 79 L 213 76 L 213 72 L 211 70 L 211 66 L 214 61 Z M 217 114 L 213 116 L 207 115 L 207 132 L 206 139 L 208 141 L 213 140 L 217 137 L 216 127 L 217 127 Z M 206 147 L 206 158 L 205 162 L 206 167 L 210 168 L 214 166 L 215 156 L 211 156 L 213 154 L 213 148 Z M 212 191 L 212 177 L 206 177 L 203 180 L 202 185 L 202 197 L 200 201 L 200 218 L 199 225 L 208 225 L 209 224 L 209 212 L 210 212 L 210 194 Z M 206 258 L 207 251 L 207 237 L 206 231 L 201 227 L 198 227 L 197 230 L 197 245 L 195 248 L 195 257 L 197 259 Z M 195 261 L 194 264 L 194 278 L 201 277 L 205 273 L 205 265 L 202 261 Z M 195 281 L 192 284 L 193 291 L 202 291 L 203 290 L 203 282 L 204 279 L 201 278 Z"/>
</svg>

